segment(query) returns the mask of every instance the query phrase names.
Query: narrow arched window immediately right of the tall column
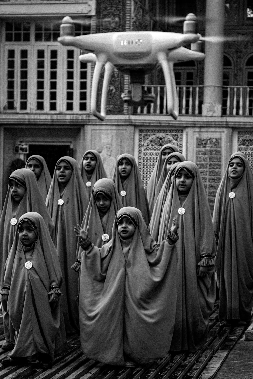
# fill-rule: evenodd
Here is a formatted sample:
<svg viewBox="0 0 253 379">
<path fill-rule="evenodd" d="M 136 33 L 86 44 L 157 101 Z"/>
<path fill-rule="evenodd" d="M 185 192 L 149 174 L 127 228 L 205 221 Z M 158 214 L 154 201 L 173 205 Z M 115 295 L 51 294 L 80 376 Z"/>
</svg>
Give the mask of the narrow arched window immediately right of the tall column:
<svg viewBox="0 0 253 379">
<path fill-rule="evenodd" d="M 229 103 L 231 108 L 231 101 L 233 96 L 233 91 L 229 90 L 229 86 L 233 85 L 233 64 L 231 59 L 227 56 L 223 56 L 223 92 L 222 92 L 222 114 L 229 115 L 230 109 L 228 109 L 228 94 Z"/>
</svg>

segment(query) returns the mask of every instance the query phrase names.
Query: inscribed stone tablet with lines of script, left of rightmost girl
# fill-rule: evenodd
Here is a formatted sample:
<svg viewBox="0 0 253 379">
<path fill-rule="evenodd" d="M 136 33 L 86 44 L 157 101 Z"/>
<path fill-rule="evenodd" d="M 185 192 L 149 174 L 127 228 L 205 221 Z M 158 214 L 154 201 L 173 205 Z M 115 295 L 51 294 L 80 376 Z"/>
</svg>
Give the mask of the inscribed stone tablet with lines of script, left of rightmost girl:
<svg viewBox="0 0 253 379">
<path fill-rule="evenodd" d="M 196 165 L 200 170 L 212 213 L 215 195 L 222 180 L 221 138 L 196 138 Z"/>
</svg>

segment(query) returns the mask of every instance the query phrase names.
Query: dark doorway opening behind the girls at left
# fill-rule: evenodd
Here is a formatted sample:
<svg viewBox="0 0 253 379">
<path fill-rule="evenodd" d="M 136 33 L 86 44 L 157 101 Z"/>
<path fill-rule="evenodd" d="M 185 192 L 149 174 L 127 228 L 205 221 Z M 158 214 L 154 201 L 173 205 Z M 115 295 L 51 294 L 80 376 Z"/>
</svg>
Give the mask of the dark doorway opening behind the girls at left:
<svg viewBox="0 0 253 379">
<path fill-rule="evenodd" d="M 27 159 L 31 155 L 38 154 L 43 157 L 47 163 L 50 175 L 53 177 L 55 165 L 61 157 L 65 155 L 72 157 L 72 149 L 70 145 L 31 145 L 29 144 L 29 153 Z"/>
</svg>

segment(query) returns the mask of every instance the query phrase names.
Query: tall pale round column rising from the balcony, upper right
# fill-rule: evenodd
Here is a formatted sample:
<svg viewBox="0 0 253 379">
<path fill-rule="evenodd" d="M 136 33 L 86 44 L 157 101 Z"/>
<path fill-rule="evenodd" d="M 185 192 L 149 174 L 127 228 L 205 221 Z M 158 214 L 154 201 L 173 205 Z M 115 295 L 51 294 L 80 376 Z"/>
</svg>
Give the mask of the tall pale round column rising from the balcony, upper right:
<svg viewBox="0 0 253 379">
<path fill-rule="evenodd" d="M 223 0 L 206 1 L 206 37 L 223 36 L 225 4 Z M 203 116 L 222 115 L 223 42 L 205 43 Z"/>
</svg>

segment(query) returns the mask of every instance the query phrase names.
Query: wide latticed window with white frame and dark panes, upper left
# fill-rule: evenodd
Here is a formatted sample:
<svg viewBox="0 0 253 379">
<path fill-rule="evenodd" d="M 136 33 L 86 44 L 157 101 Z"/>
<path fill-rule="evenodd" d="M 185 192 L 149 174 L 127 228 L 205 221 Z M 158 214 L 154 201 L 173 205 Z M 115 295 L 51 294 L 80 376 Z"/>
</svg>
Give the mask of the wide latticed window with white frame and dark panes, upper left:
<svg viewBox="0 0 253 379">
<path fill-rule="evenodd" d="M 76 25 L 76 36 L 88 33 L 88 22 Z M 80 50 L 57 42 L 60 22 L 6 22 L 3 36 L 3 111 L 88 110 L 90 67 L 79 61 Z"/>
</svg>

